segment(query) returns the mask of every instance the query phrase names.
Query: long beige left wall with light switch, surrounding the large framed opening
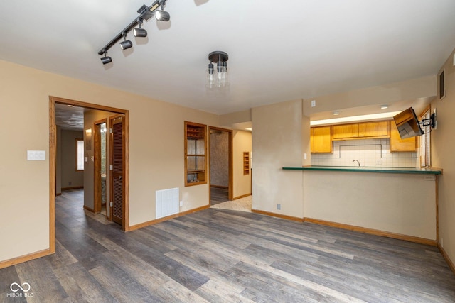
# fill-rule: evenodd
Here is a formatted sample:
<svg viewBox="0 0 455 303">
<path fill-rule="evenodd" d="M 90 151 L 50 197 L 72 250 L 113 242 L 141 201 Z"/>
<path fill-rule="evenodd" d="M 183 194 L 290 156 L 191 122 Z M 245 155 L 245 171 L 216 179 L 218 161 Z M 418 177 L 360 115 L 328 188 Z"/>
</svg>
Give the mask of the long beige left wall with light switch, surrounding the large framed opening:
<svg viewBox="0 0 455 303">
<path fill-rule="evenodd" d="M 9 62 L 0 70 L 9 109 L 0 127 L 15 126 L 0 132 L 8 159 L 0 163 L 0 240 L 14 243 L 1 246 L 0 261 L 49 247 L 49 96 L 129 110 L 130 225 L 155 219 L 158 189 L 178 187 L 181 211 L 208 205 L 208 184 L 184 187 L 183 121 L 218 126 L 218 116 Z M 46 160 L 27 161 L 26 150 L 45 150 Z"/>
</svg>

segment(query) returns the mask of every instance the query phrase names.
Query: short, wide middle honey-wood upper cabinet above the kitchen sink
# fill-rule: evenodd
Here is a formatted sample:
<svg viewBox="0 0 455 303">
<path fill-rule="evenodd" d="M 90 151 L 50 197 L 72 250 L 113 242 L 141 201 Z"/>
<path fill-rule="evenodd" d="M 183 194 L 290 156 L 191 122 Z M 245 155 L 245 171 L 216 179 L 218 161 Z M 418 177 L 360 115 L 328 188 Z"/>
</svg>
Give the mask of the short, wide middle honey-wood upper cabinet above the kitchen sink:
<svg viewBox="0 0 455 303">
<path fill-rule="evenodd" d="M 333 140 L 389 138 L 389 121 L 334 125 Z"/>
</svg>

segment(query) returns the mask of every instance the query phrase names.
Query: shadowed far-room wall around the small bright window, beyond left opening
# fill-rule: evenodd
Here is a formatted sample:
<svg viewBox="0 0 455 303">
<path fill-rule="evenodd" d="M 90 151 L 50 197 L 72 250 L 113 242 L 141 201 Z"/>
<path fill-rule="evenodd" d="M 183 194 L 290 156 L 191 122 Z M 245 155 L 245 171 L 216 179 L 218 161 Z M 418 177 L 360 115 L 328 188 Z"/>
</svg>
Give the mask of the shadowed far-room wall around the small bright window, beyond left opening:
<svg viewBox="0 0 455 303">
<path fill-rule="evenodd" d="M 61 131 L 61 186 L 63 188 L 84 186 L 84 172 L 76 170 L 76 139 L 83 138 L 82 131 Z"/>
</svg>

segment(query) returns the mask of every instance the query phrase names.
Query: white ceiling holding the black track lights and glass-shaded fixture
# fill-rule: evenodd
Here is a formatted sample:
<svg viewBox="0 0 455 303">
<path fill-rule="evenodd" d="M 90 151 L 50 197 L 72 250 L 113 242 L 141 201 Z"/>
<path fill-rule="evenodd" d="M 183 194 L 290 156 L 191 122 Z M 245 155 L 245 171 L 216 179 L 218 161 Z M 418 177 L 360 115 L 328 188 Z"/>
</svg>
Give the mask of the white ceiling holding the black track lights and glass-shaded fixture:
<svg viewBox="0 0 455 303">
<path fill-rule="evenodd" d="M 435 75 L 455 48 L 454 0 L 168 0 L 133 48 L 98 51 L 145 0 L 0 2 L 0 59 L 226 114 Z M 205 89 L 208 53 L 230 89 Z"/>
</svg>

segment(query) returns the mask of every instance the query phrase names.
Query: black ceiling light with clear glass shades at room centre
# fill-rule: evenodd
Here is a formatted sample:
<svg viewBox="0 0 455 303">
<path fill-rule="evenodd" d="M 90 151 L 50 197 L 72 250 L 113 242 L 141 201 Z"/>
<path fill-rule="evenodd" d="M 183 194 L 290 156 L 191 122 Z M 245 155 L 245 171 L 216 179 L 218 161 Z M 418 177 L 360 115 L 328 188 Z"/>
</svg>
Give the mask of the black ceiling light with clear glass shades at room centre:
<svg viewBox="0 0 455 303">
<path fill-rule="evenodd" d="M 210 63 L 208 64 L 207 70 L 207 88 L 227 87 L 230 84 L 228 75 L 228 53 L 216 50 L 215 52 L 208 54 L 208 60 Z M 215 62 L 216 70 L 213 65 Z"/>
</svg>

